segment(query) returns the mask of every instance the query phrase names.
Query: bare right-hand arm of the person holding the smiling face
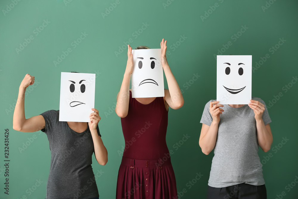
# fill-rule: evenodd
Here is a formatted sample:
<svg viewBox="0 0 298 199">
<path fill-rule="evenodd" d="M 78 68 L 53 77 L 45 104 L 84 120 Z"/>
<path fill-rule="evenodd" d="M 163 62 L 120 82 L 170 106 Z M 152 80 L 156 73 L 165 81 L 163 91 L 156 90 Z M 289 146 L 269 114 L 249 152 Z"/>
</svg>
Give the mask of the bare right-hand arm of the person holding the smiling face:
<svg viewBox="0 0 298 199">
<path fill-rule="evenodd" d="M 251 100 L 249 107 L 254 110 L 254 118 L 256 119 L 257 123 L 258 144 L 264 152 L 267 152 L 271 148 L 273 136 L 270 125 L 265 125 L 262 119 L 263 112 L 265 111 L 265 105 L 259 101 Z"/>
</svg>

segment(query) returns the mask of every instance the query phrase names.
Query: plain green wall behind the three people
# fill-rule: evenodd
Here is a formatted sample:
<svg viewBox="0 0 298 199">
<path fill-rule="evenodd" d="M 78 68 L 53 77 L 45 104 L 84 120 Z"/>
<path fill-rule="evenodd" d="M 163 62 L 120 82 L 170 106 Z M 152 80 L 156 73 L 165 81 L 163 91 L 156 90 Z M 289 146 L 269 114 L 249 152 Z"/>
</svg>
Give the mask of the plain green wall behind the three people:
<svg viewBox="0 0 298 199">
<path fill-rule="evenodd" d="M 111 4 L 117 6 L 112 10 Z M 109 7 L 112 11 L 103 16 Z M 162 38 L 168 41 L 168 62 L 183 89 L 185 101 L 181 109 L 170 109 L 167 130 L 167 146 L 174 150 L 171 159 L 177 189 L 187 191 L 179 198 L 206 198 L 213 152 L 208 156 L 201 152 L 199 122 L 204 105 L 216 98 L 214 54 L 224 46 L 227 48 L 222 50 L 224 55 L 252 55 L 253 67 L 261 57 L 270 56 L 252 73 L 252 95 L 262 98 L 267 107 L 275 102 L 268 109 L 274 141 L 271 150 L 264 153 L 260 149 L 259 156 L 268 198 L 276 198 L 282 192 L 286 194 L 283 198 L 297 198 L 298 185 L 294 180 L 298 176 L 298 83 L 291 83 L 296 83 L 293 77 L 298 75 L 297 1 L 4 0 L 0 8 L 1 199 L 22 198 L 23 195 L 45 198 L 49 175 L 50 150 L 46 135 L 41 131 L 17 132 L 12 127 L 19 84 L 27 73 L 35 76 L 36 86 L 27 90 L 25 100 L 26 118 L 29 118 L 49 109 L 59 109 L 60 72 L 71 71 L 97 73 L 95 108 L 102 118 L 99 127 L 108 149 L 108 163 L 101 166 L 93 156 L 92 167 L 94 174 L 101 175 L 97 179 L 100 198 L 114 198 L 121 161 L 117 151 L 124 145 L 114 103 L 125 71 L 127 49 L 125 47 L 117 56 L 115 51 L 127 41 L 133 48 L 139 45 L 159 48 Z M 204 15 L 206 18 L 202 19 Z M 45 27 L 38 32 L 36 28 L 43 23 Z M 147 24 L 146 27 L 143 24 Z M 242 27 L 247 29 L 238 33 Z M 82 33 L 88 35 L 74 48 L 72 42 Z M 238 38 L 234 34 L 238 34 Z M 16 50 L 20 43 L 29 41 L 30 36 L 33 40 L 23 50 Z M 180 39 L 182 37 L 184 39 Z M 179 39 L 183 42 L 179 43 Z M 278 44 L 280 39 L 285 40 L 280 42 L 282 45 Z M 275 45 L 278 49 L 272 51 Z M 72 52 L 55 66 L 53 61 L 68 48 Z M 200 75 L 196 81 L 192 81 L 194 74 Z M 189 83 L 192 84 L 187 86 Z M 282 96 L 274 100 L 279 94 Z M 10 141 L 9 195 L 4 194 L 3 189 L 4 129 L 9 129 Z M 190 138 L 178 150 L 173 148 L 184 135 Z M 32 136 L 36 139 L 20 152 L 19 147 Z M 281 144 L 283 138 L 288 141 Z M 197 173 L 203 177 L 195 182 Z M 36 181 L 41 181 L 40 186 L 29 191 Z M 195 183 L 190 185 L 189 181 Z M 292 188 L 287 188 L 291 183 Z"/>
</svg>

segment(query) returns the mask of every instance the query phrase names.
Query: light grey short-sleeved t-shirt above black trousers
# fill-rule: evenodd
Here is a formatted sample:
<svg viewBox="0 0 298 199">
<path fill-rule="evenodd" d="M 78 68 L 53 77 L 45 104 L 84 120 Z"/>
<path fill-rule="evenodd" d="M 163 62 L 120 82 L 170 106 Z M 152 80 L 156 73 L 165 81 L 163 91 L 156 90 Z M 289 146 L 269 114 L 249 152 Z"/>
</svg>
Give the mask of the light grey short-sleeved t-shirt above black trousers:
<svg viewBox="0 0 298 199">
<path fill-rule="evenodd" d="M 252 99 L 265 105 L 260 98 Z M 200 121 L 208 126 L 212 123 L 209 112 L 211 101 L 215 100 L 210 100 L 205 105 Z M 221 108 L 224 112 L 218 124 L 208 185 L 226 187 L 240 183 L 265 184 L 258 156 L 257 126 L 253 109 L 247 104 L 239 108 L 223 105 Z M 265 125 L 271 122 L 266 105 L 262 119 Z"/>
</svg>

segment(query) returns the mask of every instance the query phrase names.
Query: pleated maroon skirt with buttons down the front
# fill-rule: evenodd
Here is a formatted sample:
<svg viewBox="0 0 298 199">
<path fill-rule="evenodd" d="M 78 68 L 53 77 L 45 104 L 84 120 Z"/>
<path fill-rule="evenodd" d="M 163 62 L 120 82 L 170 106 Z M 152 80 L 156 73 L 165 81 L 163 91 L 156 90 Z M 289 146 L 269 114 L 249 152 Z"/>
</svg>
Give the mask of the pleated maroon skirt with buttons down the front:
<svg viewBox="0 0 298 199">
<path fill-rule="evenodd" d="M 162 161 L 122 157 L 116 199 L 173 199 L 176 197 L 176 179 L 170 158 Z"/>
</svg>

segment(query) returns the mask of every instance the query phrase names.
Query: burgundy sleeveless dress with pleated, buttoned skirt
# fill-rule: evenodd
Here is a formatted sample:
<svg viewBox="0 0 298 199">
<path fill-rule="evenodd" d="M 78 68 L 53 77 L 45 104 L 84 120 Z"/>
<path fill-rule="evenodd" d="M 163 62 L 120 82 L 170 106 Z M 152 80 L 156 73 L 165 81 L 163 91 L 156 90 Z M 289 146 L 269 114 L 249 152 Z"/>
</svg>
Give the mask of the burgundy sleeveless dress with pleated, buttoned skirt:
<svg viewBox="0 0 298 199">
<path fill-rule="evenodd" d="M 168 112 L 163 97 L 142 104 L 129 97 L 121 118 L 125 149 L 119 167 L 116 199 L 177 197 L 176 179 L 166 144 Z"/>
</svg>

